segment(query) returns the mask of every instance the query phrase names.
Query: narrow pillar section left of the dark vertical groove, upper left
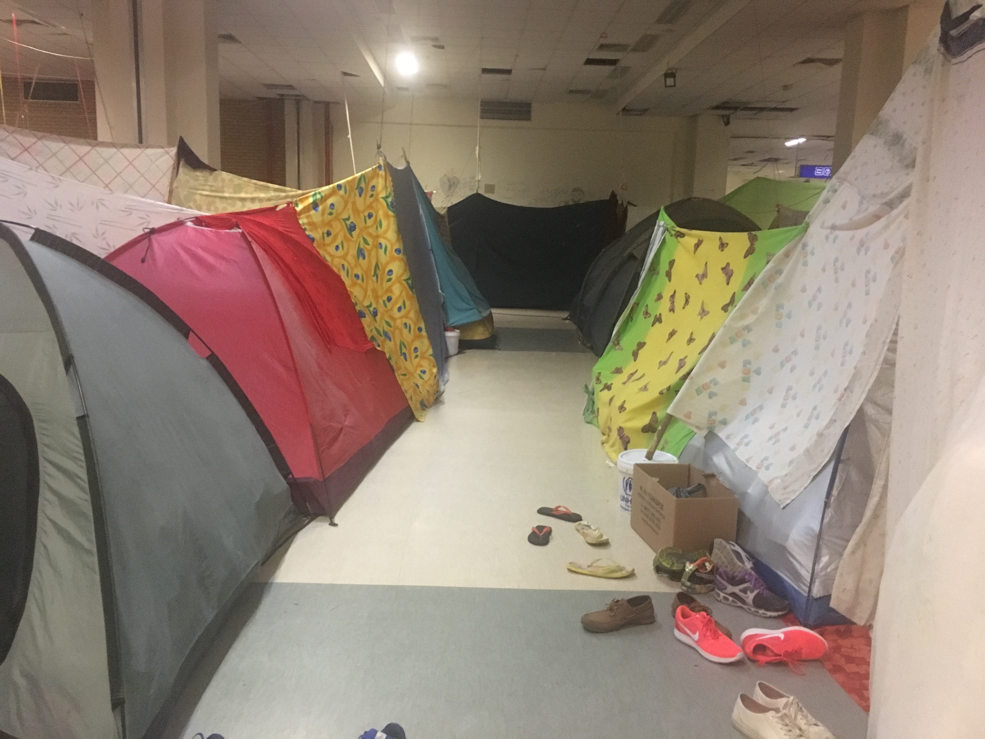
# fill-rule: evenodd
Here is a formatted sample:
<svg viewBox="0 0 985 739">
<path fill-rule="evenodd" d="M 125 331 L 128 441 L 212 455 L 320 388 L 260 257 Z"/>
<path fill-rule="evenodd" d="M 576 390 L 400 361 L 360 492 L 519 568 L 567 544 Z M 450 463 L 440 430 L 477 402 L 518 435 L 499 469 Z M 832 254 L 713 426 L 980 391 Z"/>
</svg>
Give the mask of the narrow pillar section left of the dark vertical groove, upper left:
<svg viewBox="0 0 985 739">
<path fill-rule="evenodd" d="M 130 0 L 93 3 L 96 131 L 99 141 L 137 141 L 137 72 Z"/>
</svg>

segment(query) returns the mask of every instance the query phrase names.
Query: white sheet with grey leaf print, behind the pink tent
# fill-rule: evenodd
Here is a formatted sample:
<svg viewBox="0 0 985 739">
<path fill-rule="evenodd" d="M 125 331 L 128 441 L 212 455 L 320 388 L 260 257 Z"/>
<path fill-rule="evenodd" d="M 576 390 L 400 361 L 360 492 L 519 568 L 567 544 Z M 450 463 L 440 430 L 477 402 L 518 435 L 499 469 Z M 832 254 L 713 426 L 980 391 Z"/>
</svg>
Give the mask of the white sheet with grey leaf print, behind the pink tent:
<svg viewBox="0 0 985 739">
<path fill-rule="evenodd" d="M 197 215 L 0 158 L 0 218 L 44 229 L 98 256 L 148 229 Z"/>
</svg>

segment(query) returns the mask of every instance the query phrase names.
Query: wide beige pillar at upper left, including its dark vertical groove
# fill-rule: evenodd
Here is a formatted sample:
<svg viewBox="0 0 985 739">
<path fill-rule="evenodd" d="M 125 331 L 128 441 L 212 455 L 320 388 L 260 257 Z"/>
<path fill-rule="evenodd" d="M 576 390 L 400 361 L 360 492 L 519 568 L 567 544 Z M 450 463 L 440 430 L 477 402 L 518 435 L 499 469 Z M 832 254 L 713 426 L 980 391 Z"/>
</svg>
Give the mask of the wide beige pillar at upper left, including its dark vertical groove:
<svg viewBox="0 0 985 739">
<path fill-rule="evenodd" d="M 94 0 L 99 138 L 174 146 L 183 136 L 205 162 L 221 167 L 217 0 L 136 5 L 134 19 L 131 0 Z"/>
</svg>

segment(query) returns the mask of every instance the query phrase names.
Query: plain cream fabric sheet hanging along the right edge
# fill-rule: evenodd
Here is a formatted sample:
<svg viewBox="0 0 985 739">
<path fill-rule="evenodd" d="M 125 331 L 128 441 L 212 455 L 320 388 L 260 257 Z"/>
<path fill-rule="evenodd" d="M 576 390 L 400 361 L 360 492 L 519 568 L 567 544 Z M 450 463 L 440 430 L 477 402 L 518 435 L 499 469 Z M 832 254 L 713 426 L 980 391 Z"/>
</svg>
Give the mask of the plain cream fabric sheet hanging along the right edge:
<svg viewBox="0 0 985 739">
<path fill-rule="evenodd" d="M 872 739 L 972 737 L 985 723 L 985 638 L 967 628 L 985 587 L 985 8 L 945 3 L 939 34 L 914 67 L 927 89 L 909 101 L 920 127 L 911 138 Z"/>
</svg>

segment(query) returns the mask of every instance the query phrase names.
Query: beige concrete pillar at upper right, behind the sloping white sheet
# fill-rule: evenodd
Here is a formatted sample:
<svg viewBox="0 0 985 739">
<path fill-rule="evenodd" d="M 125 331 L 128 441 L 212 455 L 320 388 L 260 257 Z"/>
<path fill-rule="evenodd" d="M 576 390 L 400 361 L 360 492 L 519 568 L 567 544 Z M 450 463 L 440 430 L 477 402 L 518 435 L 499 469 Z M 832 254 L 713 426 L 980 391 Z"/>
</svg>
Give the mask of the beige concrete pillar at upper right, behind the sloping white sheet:
<svg viewBox="0 0 985 739">
<path fill-rule="evenodd" d="M 872 10 L 845 27 L 841 88 L 834 131 L 837 170 L 869 130 L 910 65 L 937 28 L 943 0 Z"/>
</svg>

